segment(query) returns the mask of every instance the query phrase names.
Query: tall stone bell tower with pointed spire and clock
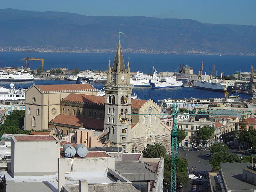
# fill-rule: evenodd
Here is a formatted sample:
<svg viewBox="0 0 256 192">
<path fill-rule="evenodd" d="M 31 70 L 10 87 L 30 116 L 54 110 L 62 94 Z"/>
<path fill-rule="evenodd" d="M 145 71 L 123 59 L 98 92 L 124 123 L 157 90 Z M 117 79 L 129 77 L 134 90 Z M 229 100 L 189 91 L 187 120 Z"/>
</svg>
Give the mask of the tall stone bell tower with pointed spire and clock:
<svg viewBox="0 0 256 192">
<path fill-rule="evenodd" d="M 129 61 L 125 69 L 124 58 L 118 41 L 115 60 L 110 67 L 108 61 L 107 83 L 105 89 L 104 131 L 109 132 L 112 147 L 125 148 L 131 152 L 131 97 L 133 85 L 130 84 Z"/>
</svg>

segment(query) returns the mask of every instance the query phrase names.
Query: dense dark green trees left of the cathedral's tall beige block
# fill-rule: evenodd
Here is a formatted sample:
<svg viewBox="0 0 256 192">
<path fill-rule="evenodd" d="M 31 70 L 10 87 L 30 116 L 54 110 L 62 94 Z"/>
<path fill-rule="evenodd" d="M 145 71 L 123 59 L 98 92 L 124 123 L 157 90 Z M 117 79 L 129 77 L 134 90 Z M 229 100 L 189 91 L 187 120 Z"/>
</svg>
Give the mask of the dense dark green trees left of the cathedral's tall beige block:
<svg viewBox="0 0 256 192">
<path fill-rule="evenodd" d="M 22 130 L 22 126 L 24 125 L 24 116 L 24 110 L 12 111 L 12 113 L 6 117 L 4 124 L 0 126 L 0 135 L 4 133 L 29 134 L 31 130 Z"/>
</svg>

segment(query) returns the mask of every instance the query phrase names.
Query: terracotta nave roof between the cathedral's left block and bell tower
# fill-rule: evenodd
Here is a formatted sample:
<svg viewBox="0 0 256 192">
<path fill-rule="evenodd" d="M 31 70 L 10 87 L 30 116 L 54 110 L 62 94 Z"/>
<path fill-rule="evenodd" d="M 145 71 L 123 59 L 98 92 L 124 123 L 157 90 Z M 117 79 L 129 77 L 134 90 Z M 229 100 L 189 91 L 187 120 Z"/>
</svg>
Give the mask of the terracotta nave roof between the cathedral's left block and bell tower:
<svg viewBox="0 0 256 192">
<path fill-rule="evenodd" d="M 78 102 L 85 102 L 85 103 L 97 103 L 97 104 L 104 104 L 105 103 L 105 97 L 96 96 L 96 95 L 76 94 L 76 93 L 70 93 L 63 100 L 78 101 Z"/>
</svg>

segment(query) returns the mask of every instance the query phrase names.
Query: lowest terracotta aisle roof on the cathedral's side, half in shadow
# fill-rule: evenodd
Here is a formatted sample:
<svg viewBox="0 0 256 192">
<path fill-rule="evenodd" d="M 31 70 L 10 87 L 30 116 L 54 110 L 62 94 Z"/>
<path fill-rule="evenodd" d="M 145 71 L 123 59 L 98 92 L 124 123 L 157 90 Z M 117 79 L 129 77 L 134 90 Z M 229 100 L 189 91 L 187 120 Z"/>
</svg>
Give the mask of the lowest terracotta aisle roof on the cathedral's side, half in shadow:
<svg viewBox="0 0 256 192">
<path fill-rule="evenodd" d="M 104 130 L 104 120 L 90 117 L 81 117 L 75 115 L 59 114 L 51 121 L 52 123 L 67 124 L 84 128 Z"/>
</svg>

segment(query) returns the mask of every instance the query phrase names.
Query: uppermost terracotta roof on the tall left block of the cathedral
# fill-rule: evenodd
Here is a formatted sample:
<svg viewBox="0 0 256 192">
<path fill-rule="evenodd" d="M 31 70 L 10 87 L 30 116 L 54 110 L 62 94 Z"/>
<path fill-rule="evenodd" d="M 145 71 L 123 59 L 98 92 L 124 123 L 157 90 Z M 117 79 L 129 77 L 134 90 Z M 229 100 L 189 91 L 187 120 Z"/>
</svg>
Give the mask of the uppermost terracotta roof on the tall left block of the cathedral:
<svg viewBox="0 0 256 192">
<path fill-rule="evenodd" d="M 90 84 L 36 85 L 41 91 L 64 91 L 93 89 Z"/>
</svg>

